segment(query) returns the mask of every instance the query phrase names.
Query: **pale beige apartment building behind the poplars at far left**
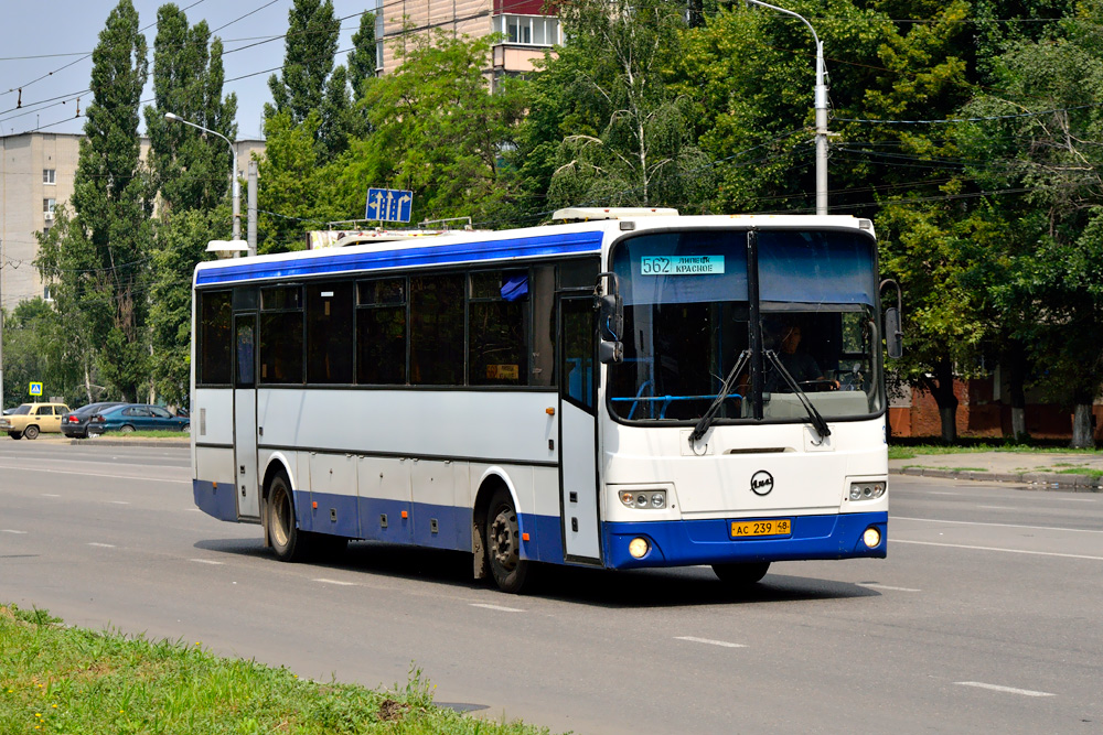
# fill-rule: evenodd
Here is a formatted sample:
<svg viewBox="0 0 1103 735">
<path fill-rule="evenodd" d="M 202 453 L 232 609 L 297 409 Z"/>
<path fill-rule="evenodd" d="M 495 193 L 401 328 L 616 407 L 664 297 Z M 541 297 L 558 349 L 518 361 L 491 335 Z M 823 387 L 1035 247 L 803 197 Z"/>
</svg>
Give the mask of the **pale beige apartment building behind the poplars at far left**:
<svg viewBox="0 0 1103 735">
<path fill-rule="evenodd" d="M 49 231 L 55 207 L 73 196 L 83 138 L 53 132 L 0 137 L 0 305 L 9 312 L 28 299 L 50 298 L 49 284 L 34 268 L 35 233 Z M 238 140 L 235 145 L 243 170 L 253 151 L 265 150 L 263 140 Z M 148 152 L 149 139 L 142 138 L 143 160 Z"/>
</svg>

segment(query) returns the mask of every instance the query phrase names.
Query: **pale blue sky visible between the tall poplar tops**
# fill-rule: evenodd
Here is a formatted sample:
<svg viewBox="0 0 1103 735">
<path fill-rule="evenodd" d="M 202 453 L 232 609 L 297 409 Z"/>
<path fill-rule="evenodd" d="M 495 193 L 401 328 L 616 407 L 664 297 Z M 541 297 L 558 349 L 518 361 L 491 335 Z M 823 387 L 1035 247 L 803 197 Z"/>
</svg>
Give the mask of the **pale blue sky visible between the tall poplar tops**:
<svg viewBox="0 0 1103 735">
<path fill-rule="evenodd" d="M 149 46 L 153 71 L 157 10 L 164 0 L 131 0 Z M 83 112 L 90 101 L 92 50 L 99 41 L 107 15 L 118 0 L 0 0 L 0 134 L 83 132 L 85 119 L 76 118 L 77 96 Z M 283 39 L 292 0 L 178 0 L 188 22 L 205 20 L 223 40 L 226 84 L 223 95 L 237 94 L 237 134 L 261 138 L 265 102 L 271 101 L 268 77 L 283 63 Z M 341 23 L 336 63 L 352 48 L 358 14 L 374 8 L 374 0 L 333 0 Z M 217 30 L 216 30 L 217 29 Z M 265 42 L 267 43 L 258 43 Z M 245 46 L 250 46 L 246 48 Z M 240 51 L 235 51 L 240 50 Z M 22 87 L 20 95 L 19 88 Z M 142 107 L 152 104 L 152 79 Z M 22 102 L 22 107 L 19 104 Z M 144 128 L 144 122 L 142 123 Z"/>
</svg>

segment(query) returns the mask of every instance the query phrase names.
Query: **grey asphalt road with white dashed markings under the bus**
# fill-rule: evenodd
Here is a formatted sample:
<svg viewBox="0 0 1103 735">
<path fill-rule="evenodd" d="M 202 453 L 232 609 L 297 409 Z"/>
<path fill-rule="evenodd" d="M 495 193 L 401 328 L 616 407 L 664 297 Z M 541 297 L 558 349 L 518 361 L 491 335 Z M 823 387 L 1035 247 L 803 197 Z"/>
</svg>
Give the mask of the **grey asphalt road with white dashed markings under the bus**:
<svg viewBox="0 0 1103 735">
<path fill-rule="evenodd" d="M 0 440 L 0 601 L 405 685 L 556 732 L 1103 732 L 1103 495 L 893 477 L 889 559 L 555 570 L 355 543 L 275 561 L 192 505 L 186 450 Z"/>
</svg>

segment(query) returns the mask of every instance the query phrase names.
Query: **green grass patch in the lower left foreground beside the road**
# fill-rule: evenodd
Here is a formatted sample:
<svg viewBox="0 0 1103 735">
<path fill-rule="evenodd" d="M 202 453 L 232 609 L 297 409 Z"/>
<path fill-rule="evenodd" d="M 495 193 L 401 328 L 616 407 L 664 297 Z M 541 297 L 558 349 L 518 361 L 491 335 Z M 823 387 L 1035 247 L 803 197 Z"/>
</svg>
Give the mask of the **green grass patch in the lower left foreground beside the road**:
<svg viewBox="0 0 1103 735">
<path fill-rule="evenodd" d="M 200 644 L 67 628 L 0 605 L 0 733 L 485 733 L 546 729 L 479 720 L 432 703 L 411 668 L 377 692 L 218 658 Z"/>
</svg>

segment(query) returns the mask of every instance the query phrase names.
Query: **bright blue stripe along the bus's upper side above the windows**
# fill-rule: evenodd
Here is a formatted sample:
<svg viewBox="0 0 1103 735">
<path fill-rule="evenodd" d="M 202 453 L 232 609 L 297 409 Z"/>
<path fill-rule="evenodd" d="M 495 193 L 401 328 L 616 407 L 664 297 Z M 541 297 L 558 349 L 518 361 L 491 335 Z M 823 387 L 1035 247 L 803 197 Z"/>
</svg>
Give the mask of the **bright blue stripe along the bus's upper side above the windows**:
<svg viewBox="0 0 1103 735">
<path fill-rule="evenodd" d="M 600 231 L 565 233 L 534 237 L 462 242 L 459 245 L 427 246 L 367 252 L 342 252 L 320 258 L 288 258 L 247 262 L 240 266 L 204 268 L 195 277 L 196 285 L 233 283 L 253 279 L 293 278 L 341 273 L 346 271 L 377 270 L 383 268 L 442 266 L 458 262 L 493 260 L 497 258 L 531 258 L 537 256 L 569 256 L 598 252 L 601 249 Z"/>
</svg>

